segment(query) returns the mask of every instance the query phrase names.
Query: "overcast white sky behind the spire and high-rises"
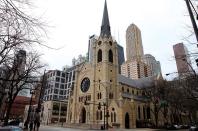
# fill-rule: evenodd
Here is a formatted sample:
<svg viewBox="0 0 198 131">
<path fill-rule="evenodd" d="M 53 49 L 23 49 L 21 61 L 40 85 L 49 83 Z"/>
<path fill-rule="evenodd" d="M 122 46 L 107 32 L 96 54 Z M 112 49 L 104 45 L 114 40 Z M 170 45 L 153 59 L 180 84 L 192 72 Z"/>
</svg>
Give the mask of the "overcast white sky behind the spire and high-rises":
<svg viewBox="0 0 198 131">
<path fill-rule="evenodd" d="M 104 0 L 35 0 L 35 11 L 50 26 L 44 44 L 60 50 L 42 48 L 49 69 L 71 65 L 72 58 L 86 54 L 89 36 L 100 34 Z M 163 75 L 176 72 L 172 46 L 184 42 L 191 51 L 198 50 L 182 39 L 191 25 L 184 0 L 107 0 L 113 37 L 126 45 L 127 27 L 134 23 L 142 33 L 145 54 L 161 62 Z M 125 54 L 126 55 L 126 54 Z"/>
</svg>

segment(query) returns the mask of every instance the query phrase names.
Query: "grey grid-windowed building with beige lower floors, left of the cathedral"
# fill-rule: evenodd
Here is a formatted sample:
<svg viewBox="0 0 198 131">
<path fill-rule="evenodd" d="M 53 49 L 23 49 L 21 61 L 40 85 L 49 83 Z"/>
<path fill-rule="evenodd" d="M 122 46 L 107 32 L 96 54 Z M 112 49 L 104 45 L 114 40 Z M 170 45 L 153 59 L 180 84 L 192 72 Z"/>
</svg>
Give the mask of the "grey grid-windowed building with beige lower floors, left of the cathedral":
<svg viewBox="0 0 198 131">
<path fill-rule="evenodd" d="M 46 73 L 47 83 L 41 118 L 43 123 L 62 123 L 66 121 L 68 99 L 75 85 L 76 68 L 81 64 L 72 67 L 64 66 L 63 71 L 50 70 Z"/>
</svg>

